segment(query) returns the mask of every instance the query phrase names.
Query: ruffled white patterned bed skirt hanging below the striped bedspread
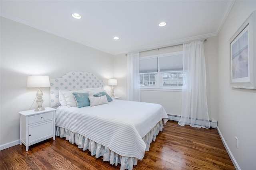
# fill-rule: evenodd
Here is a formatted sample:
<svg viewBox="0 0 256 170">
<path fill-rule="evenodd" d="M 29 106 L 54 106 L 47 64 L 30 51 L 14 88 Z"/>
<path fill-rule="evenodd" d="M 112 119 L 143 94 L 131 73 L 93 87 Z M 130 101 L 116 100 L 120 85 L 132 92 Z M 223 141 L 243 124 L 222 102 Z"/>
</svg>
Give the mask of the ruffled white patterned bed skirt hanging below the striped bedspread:
<svg viewBox="0 0 256 170">
<path fill-rule="evenodd" d="M 159 134 L 160 131 L 163 131 L 163 123 L 162 120 L 156 124 L 151 131 L 144 136 L 142 139 L 146 144 L 146 150 L 148 151 L 150 148 L 150 144 L 152 141 L 156 140 L 156 135 Z M 55 127 L 55 134 L 56 136 L 65 137 L 66 140 L 68 140 L 70 143 L 78 145 L 78 148 L 81 148 L 83 150 L 89 150 L 91 152 L 91 156 L 94 156 L 96 158 L 103 156 L 104 161 L 109 161 L 110 164 L 115 164 L 116 166 L 118 163 L 120 164 L 120 170 L 132 170 L 134 165 L 137 165 L 138 158 L 134 157 L 126 157 L 121 156 L 112 150 L 110 150 L 108 147 L 105 147 L 103 145 L 100 145 L 83 135 L 80 135 L 79 133 L 74 133 L 72 131 L 69 131 L 68 129 L 64 129 L 62 127 Z"/>
</svg>

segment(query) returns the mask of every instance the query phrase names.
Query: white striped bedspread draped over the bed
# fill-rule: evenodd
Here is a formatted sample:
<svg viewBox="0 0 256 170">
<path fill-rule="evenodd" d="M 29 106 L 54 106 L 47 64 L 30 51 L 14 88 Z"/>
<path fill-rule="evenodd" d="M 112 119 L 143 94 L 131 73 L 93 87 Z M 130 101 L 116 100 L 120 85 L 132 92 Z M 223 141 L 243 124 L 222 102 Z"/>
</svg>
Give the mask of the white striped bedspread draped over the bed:
<svg viewBox="0 0 256 170">
<path fill-rule="evenodd" d="M 168 115 L 159 104 L 113 100 L 93 107 L 59 106 L 55 125 L 91 139 L 121 156 L 142 160 L 146 144 L 142 140 Z"/>
</svg>

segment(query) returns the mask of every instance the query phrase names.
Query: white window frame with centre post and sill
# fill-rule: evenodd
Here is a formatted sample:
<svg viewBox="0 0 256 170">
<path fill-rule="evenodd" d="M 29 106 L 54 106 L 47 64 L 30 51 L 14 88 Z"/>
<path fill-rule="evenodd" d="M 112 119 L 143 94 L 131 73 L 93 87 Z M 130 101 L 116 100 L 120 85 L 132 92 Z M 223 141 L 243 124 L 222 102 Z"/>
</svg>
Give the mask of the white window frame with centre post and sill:
<svg viewBox="0 0 256 170">
<path fill-rule="evenodd" d="M 170 55 L 179 55 L 182 54 L 182 51 L 177 51 L 173 53 L 164 53 L 160 55 L 151 55 L 151 56 L 145 56 L 145 57 L 140 57 L 140 59 L 150 59 L 150 58 L 158 58 L 158 66 L 157 66 L 157 73 L 156 74 L 156 82 L 155 86 L 140 86 L 140 90 L 153 90 L 153 91 L 182 91 L 182 86 L 163 86 L 163 79 L 162 77 L 162 72 L 160 72 L 160 62 L 159 58 L 160 57 L 166 57 Z M 152 74 L 150 72 L 148 73 L 141 73 L 141 74 Z"/>
</svg>

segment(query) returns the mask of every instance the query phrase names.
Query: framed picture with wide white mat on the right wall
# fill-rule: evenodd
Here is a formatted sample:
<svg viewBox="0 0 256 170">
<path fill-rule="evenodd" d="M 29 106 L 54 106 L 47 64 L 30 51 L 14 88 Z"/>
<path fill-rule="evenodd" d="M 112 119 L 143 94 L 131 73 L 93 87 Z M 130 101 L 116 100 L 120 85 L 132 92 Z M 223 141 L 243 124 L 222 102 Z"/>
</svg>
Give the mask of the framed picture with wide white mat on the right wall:
<svg viewBox="0 0 256 170">
<path fill-rule="evenodd" d="M 229 41 L 230 86 L 256 89 L 256 11 Z"/>
</svg>

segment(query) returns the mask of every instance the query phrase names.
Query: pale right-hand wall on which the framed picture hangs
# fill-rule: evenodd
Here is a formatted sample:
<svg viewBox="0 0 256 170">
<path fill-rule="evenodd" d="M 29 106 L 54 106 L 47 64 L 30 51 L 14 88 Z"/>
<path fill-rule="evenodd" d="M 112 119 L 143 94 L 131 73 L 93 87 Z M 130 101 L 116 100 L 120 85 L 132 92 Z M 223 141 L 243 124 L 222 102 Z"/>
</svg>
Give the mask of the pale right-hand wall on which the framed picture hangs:
<svg viewBox="0 0 256 170">
<path fill-rule="evenodd" d="M 236 1 L 218 34 L 218 130 L 235 166 L 242 170 L 256 169 L 256 90 L 230 88 L 228 45 L 254 10 L 256 1 Z M 235 137 L 238 138 L 238 149 Z"/>
</svg>

